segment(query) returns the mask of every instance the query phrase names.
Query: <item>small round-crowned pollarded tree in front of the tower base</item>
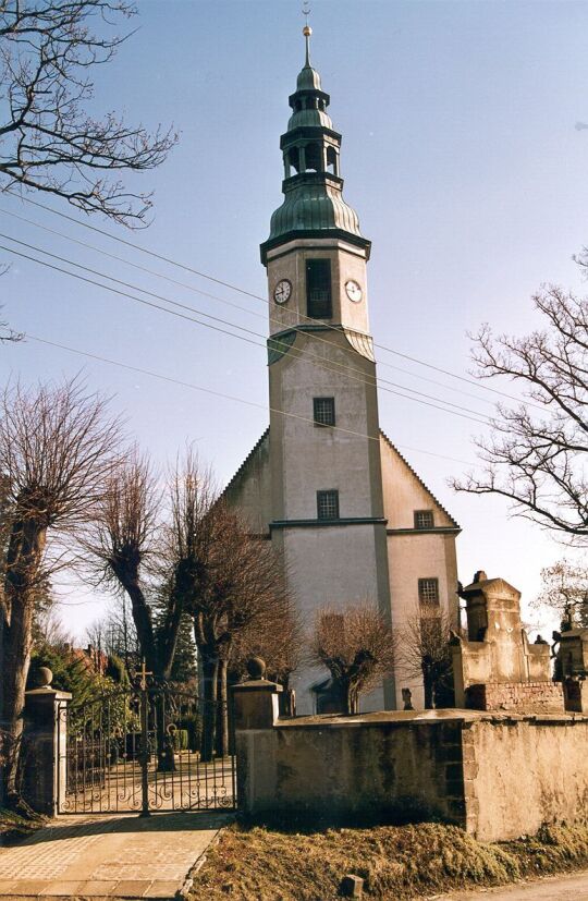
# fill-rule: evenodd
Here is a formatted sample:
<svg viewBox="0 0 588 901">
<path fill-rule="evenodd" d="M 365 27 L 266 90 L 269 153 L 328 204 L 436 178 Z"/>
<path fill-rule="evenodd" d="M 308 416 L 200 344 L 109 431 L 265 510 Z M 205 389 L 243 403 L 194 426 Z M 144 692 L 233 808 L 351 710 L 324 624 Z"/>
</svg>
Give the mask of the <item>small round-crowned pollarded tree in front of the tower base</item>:
<svg viewBox="0 0 588 901">
<path fill-rule="evenodd" d="M 359 695 L 391 672 L 394 645 L 390 625 L 369 601 L 317 612 L 311 658 L 327 667 L 340 687 L 345 714 L 356 714 Z"/>
</svg>

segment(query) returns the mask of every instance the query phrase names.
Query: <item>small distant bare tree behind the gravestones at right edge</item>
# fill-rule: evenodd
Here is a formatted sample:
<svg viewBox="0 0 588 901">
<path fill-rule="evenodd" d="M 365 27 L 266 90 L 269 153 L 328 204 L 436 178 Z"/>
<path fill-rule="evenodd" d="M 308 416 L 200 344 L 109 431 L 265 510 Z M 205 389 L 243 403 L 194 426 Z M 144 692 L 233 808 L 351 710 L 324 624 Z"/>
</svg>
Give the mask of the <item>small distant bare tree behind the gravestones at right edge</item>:
<svg viewBox="0 0 588 901">
<path fill-rule="evenodd" d="M 562 631 L 588 629 L 588 568 L 558 560 L 541 570 L 541 590 L 536 607 L 549 607 L 561 618 Z"/>
</svg>

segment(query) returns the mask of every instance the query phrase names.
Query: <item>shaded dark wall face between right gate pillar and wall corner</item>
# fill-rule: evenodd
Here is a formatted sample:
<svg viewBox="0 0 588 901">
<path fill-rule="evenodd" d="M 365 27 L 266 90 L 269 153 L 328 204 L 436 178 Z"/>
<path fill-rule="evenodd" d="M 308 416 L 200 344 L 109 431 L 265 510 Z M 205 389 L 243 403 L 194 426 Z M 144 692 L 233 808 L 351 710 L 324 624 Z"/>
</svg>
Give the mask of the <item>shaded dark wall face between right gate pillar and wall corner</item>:
<svg viewBox="0 0 588 901">
<path fill-rule="evenodd" d="M 401 714 L 298 717 L 237 731 L 237 792 L 245 814 L 336 821 L 440 817 L 463 825 L 460 720 Z"/>
</svg>

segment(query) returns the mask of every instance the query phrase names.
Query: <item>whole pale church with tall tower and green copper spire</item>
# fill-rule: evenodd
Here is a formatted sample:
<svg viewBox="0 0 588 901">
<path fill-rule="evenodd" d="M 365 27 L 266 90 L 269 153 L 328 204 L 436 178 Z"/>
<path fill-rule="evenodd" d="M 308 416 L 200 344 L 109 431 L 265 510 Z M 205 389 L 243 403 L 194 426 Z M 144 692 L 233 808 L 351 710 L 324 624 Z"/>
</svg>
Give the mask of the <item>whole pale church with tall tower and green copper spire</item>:
<svg viewBox="0 0 588 901">
<path fill-rule="evenodd" d="M 224 490 L 283 556 L 305 629 L 324 606 L 372 601 L 393 630 L 439 605 L 458 621 L 460 527 L 380 428 L 368 320 L 370 241 L 343 199 L 341 134 L 306 60 L 280 139 L 283 203 L 261 244 L 269 292 L 269 428 Z M 378 300 L 376 299 L 376 303 Z M 328 672 L 292 678 L 299 714 L 332 709 Z M 360 709 L 422 706 L 390 673 Z"/>
</svg>

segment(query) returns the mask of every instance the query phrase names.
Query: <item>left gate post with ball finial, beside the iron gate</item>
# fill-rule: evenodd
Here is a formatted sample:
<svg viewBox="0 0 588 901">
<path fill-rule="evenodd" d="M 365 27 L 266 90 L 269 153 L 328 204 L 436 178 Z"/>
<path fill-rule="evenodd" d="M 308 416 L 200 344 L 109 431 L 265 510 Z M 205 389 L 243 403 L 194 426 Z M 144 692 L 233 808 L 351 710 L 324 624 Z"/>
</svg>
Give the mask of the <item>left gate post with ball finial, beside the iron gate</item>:
<svg viewBox="0 0 588 901">
<path fill-rule="evenodd" d="M 25 692 L 23 797 L 34 811 L 56 816 L 63 808 L 66 778 L 70 692 L 51 687 L 53 673 L 38 672 L 37 687 Z"/>
</svg>

